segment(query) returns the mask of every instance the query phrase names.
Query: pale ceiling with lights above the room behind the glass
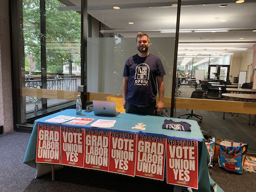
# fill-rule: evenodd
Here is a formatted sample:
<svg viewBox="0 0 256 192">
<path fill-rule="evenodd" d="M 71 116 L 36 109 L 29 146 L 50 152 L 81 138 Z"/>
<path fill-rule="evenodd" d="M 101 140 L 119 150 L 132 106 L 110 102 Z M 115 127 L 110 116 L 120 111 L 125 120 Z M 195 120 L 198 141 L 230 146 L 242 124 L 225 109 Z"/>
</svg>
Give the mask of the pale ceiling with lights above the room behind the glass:
<svg viewBox="0 0 256 192">
<path fill-rule="evenodd" d="M 242 4 L 235 1 L 181 0 L 178 54 L 234 54 L 252 49 L 256 43 L 256 31 L 253 32 L 256 0 L 245 0 Z M 67 9 L 80 10 L 81 0 L 61 2 L 70 5 Z M 88 13 L 111 28 L 104 33 L 136 37 L 144 31 L 149 37 L 175 37 L 177 7 L 172 4 L 177 3 L 174 0 L 88 0 Z M 120 9 L 114 10 L 114 6 Z M 168 30 L 172 33 L 160 33 Z M 223 30 L 226 32 L 217 32 Z"/>
</svg>

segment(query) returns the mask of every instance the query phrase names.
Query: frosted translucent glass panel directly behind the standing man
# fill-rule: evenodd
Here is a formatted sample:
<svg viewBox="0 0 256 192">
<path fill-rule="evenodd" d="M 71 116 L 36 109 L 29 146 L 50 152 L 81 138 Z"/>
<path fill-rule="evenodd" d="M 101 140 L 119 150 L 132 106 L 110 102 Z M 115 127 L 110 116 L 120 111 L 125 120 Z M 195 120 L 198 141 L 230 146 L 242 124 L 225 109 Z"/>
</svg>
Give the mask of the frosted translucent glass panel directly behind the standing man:
<svg viewBox="0 0 256 192">
<path fill-rule="evenodd" d="M 136 37 L 89 38 L 87 42 L 87 91 L 122 94 L 123 69 L 125 61 L 137 52 Z M 175 39 L 150 37 L 150 44 L 150 53 L 161 58 L 166 70 L 164 96 L 170 97 Z"/>
</svg>

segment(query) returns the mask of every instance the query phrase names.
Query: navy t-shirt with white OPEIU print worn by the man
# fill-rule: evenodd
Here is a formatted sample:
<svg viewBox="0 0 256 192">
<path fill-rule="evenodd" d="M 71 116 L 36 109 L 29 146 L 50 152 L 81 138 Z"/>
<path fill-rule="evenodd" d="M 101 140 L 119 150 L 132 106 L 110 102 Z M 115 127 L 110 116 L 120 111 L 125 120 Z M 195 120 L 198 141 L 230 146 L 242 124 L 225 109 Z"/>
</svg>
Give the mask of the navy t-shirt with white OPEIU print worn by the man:
<svg viewBox="0 0 256 192">
<path fill-rule="evenodd" d="M 155 105 L 157 98 L 157 76 L 164 76 L 163 64 L 155 55 L 128 58 L 123 76 L 129 76 L 126 102 L 137 107 Z"/>
</svg>

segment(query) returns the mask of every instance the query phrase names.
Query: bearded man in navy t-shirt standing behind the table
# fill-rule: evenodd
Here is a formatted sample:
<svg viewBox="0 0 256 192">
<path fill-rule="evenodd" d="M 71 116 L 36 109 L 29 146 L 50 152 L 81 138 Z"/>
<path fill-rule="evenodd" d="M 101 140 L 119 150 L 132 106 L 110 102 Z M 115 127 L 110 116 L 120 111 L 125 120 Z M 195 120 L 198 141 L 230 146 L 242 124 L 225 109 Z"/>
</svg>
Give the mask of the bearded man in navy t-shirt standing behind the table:
<svg viewBox="0 0 256 192">
<path fill-rule="evenodd" d="M 163 64 L 155 55 L 149 54 L 149 37 L 139 33 L 136 38 L 138 54 L 128 58 L 123 70 L 123 108 L 126 113 L 153 115 L 157 98 L 157 111 L 164 108 Z"/>
</svg>

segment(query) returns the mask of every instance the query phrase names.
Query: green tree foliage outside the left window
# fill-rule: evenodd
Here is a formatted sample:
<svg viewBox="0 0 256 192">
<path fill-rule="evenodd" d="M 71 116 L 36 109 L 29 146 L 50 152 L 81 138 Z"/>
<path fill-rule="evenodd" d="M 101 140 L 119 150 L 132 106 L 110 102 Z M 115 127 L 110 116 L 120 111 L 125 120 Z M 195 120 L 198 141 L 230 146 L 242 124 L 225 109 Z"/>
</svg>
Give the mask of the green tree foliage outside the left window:
<svg viewBox="0 0 256 192">
<path fill-rule="evenodd" d="M 59 11 L 58 7 L 63 6 L 57 0 L 46 0 L 48 73 L 63 73 L 63 65 L 69 60 L 80 65 L 81 15 L 76 11 Z M 39 0 L 23 0 L 23 36 L 25 52 L 33 55 L 35 70 L 41 70 Z"/>
</svg>

